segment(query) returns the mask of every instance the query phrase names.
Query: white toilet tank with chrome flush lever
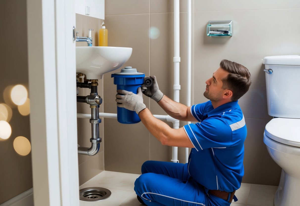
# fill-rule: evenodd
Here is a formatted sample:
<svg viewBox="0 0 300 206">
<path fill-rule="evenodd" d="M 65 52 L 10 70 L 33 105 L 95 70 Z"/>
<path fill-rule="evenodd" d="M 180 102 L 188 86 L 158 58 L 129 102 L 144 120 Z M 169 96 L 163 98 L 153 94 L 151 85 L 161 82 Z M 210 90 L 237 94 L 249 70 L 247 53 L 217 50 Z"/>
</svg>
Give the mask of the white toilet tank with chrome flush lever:
<svg viewBox="0 0 300 206">
<path fill-rule="evenodd" d="M 266 56 L 268 114 L 300 118 L 300 55 Z"/>
</svg>

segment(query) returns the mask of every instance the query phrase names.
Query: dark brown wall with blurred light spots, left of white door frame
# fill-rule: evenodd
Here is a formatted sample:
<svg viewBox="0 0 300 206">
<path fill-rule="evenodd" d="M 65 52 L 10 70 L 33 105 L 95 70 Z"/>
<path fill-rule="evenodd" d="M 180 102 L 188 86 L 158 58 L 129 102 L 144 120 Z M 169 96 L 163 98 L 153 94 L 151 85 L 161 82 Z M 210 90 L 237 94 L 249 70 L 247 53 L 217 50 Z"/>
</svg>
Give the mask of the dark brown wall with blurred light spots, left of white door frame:
<svg viewBox="0 0 300 206">
<path fill-rule="evenodd" d="M 12 107 L 9 139 L 0 138 L 0 204 L 32 188 L 31 153 L 21 156 L 13 141 L 24 136 L 30 141 L 29 116 L 22 116 L 16 106 L 4 101 L 4 89 L 17 84 L 28 90 L 26 1 L 4 0 L 0 7 L 0 104 Z M 1 111 L 0 111 L 0 116 Z M 2 119 L 1 119 L 2 120 Z"/>
</svg>

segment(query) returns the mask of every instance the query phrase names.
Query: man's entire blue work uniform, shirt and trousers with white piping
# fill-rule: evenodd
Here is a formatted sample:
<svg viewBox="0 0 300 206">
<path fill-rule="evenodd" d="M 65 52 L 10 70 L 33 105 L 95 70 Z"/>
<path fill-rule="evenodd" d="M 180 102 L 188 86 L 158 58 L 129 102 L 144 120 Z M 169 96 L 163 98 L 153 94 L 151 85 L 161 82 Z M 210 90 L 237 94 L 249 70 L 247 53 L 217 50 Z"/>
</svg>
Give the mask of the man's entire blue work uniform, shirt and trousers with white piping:
<svg viewBox="0 0 300 206">
<path fill-rule="evenodd" d="M 247 129 L 238 101 L 213 108 L 211 101 L 193 105 L 199 121 L 184 126 L 192 142 L 187 164 L 147 161 L 135 182 L 135 191 L 147 205 L 211 205 L 229 202 L 208 190 L 232 192 L 244 175 L 244 140 Z"/>
</svg>

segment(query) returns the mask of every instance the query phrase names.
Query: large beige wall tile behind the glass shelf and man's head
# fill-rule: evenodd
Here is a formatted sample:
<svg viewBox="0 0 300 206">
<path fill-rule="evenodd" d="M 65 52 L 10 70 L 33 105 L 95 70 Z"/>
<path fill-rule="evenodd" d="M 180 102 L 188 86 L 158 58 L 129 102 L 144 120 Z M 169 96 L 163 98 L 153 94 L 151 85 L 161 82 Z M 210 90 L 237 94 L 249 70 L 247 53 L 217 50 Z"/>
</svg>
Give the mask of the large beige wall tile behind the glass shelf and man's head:
<svg viewBox="0 0 300 206">
<path fill-rule="evenodd" d="M 269 35 L 273 28 L 293 28 L 299 9 L 286 10 L 251 10 L 251 11 L 223 11 L 223 12 L 195 12 L 194 30 L 194 78 L 205 86 L 205 80 L 219 67 L 222 59 L 229 59 L 246 66 L 252 76 L 253 83 L 249 92 L 240 99 L 241 108 L 247 118 L 269 119 L 265 97 L 265 79 L 262 59 L 265 56 L 297 54 L 299 44 L 296 35 L 286 37 L 284 32 Z M 232 37 L 206 36 L 205 27 L 208 20 L 233 19 Z M 257 22 L 268 22 L 258 24 Z M 281 27 L 280 25 L 284 25 Z M 249 32 L 253 28 L 253 32 Z M 254 29 L 255 28 L 255 29 Z M 295 28 L 299 32 L 299 28 Z M 280 41 L 279 41 L 280 40 Z M 194 82 L 196 80 L 194 79 Z M 196 88 L 196 84 L 194 84 Z M 204 100 L 202 95 L 194 91 L 195 102 Z"/>
</svg>

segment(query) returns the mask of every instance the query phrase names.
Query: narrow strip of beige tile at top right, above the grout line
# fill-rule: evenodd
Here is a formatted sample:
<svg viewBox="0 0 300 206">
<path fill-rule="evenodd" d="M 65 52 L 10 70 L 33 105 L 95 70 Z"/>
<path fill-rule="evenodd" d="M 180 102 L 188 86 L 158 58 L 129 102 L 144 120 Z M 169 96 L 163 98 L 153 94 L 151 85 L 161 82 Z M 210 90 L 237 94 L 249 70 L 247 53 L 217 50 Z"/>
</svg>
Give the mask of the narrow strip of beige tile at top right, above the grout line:
<svg viewBox="0 0 300 206">
<path fill-rule="evenodd" d="M 282 9 L 282 8 L 300 8 L 300 2 L 298 0 L 288 1 L 259 1 L 254 0 L 239 1 L 200 1 L 194 0 L 194 11 L 232 11 L 232 10 L 253 10 L 253 9 Z"/>
</svg>

